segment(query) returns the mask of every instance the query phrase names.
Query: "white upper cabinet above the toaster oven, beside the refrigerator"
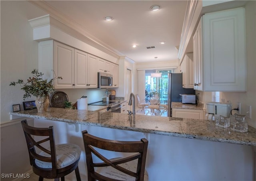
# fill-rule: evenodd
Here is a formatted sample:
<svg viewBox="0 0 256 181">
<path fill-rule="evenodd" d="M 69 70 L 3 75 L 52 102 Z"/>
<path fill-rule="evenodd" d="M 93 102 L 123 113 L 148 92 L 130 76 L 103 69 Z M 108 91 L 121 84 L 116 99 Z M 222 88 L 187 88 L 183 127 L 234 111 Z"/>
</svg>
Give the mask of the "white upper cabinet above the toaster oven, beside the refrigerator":
<svg viewBox="0 0 256 181">
<path fill-rule="evenodd" d="M 194 67 L 193 67 L 193 53 L 186 53 L 182 64 L 182 87 L 186 89 L 194 88 Z"/>
</svg>

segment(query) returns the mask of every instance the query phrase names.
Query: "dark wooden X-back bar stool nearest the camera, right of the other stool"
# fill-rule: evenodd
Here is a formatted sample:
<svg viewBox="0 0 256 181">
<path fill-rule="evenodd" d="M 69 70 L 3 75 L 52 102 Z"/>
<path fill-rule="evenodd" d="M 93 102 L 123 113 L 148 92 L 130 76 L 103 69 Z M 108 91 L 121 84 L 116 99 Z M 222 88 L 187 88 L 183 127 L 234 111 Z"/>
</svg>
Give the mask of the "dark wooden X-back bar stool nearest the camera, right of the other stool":
<svg viewBox="0 0 256 181">
<path fill-rule="evenodd" d="M 148 174 L 145 170 L 148 140 L 116 141 L 98 138 L 82 131 L 86 153 L 86 166 L 88 181 L 146 181 Z M 99 149 L 98 149 L 99 148 Z M 101 150 L 100 150 L 101 149 Z M 127 157 L 109 159 L 98 151 L 116 151 L 122 153 L 135 153 Z M 96 163 L 92 153 L 103 162 Z"/>
</svg>

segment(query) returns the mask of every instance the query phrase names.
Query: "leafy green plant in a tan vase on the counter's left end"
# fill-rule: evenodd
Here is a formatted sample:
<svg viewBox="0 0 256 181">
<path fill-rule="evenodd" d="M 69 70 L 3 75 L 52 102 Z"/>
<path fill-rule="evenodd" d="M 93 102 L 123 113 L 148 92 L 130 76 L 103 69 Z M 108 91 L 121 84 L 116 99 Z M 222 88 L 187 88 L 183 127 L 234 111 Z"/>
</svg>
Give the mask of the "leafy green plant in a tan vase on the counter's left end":
<svg viewBox="0 0 256 181">
<path fill-rule="evenodd" d="M 24 83 L 22 79 L 18 79 L 17 82 L 11 82 L 10 85 L 15 86 L 20 84 L 21 89 L 25 91 L 23 99 L 30 98 L 31 96 L 36 97 L 36 107 L 38 112 L 44 112 L 47 110 L 50 100 L 49 94 L 54 91 L 53 81 L 54 79 L 62 79 L 62 77 L 55 77 L 54 79 L 43 79 L 43 73 L 38 72 L 38 69 L 34 69 L 32 72 L 32 77 L 27 79 L 27 82 Z"/>
</svg>

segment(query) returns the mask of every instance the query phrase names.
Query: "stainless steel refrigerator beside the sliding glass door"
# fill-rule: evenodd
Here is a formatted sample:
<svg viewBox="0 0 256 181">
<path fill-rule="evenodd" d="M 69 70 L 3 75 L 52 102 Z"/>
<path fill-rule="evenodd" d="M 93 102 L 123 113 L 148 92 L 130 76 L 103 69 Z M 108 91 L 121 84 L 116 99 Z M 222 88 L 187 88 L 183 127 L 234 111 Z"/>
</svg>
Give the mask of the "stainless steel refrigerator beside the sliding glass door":
<svg viewBox="0 0 256 181">
<path fill-rule="evenodd" d="M 194 89 L 182 87 L 182 73 L 169 73 L 168 116 L 172 117 L 172 102 L 181 102 L 180 94 L 195 94 Z"/>
</svg>

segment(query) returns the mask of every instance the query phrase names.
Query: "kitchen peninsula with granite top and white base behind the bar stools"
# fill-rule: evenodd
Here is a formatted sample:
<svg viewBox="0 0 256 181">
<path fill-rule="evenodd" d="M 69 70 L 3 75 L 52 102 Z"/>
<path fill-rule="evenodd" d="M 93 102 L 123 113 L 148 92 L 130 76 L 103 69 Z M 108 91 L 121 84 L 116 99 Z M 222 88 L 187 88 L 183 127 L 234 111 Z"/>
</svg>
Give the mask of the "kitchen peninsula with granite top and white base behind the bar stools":
<svg viewBox="0 0 256 181">
<path fill-rule="evenodd" d="M 149 180 L 253 180 L 256 129 L 233 132 L 207 120 L 50 108 L 12 112 L 34 118 L 34 126 L 54 126 L 56 144 L 83 148 L 82 130 L 115 140 L 149 140 Z M 192 138 L 192 139 L 188 139 Z M 84 154 L 84 153 L 82 153 Z M 79 169 L 85 178 L 85 159 Z"/>
</svg>

